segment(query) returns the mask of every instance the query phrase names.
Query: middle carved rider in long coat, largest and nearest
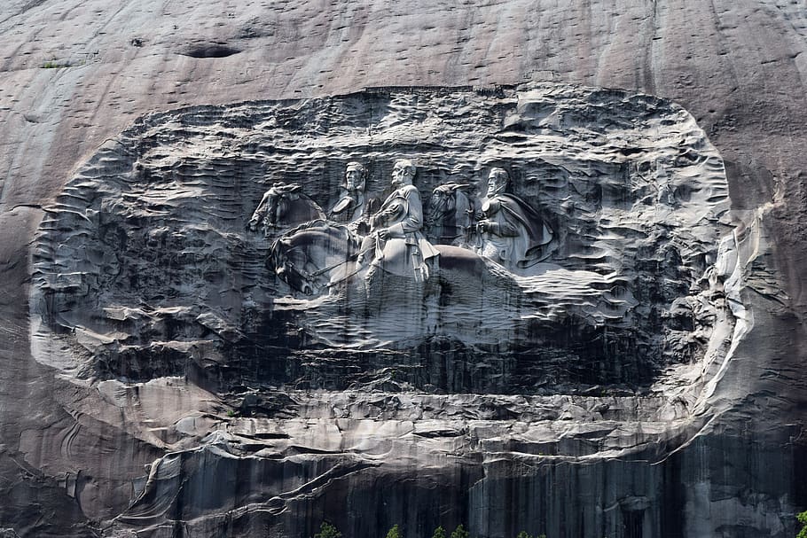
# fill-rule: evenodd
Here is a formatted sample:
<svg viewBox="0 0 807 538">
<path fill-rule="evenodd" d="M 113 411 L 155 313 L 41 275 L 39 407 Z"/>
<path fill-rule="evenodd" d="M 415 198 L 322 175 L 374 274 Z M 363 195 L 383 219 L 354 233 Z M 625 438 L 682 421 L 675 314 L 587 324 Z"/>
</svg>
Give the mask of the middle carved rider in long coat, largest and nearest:
<svg viewBox="0 0 807 538">
<path fill-rule="evenodd" d="M 358 260 L 363 263 L 372 256 L 370 275 L 384 269 L 423 281 L 428 278 L 426 261 L 439 254 L 420 231 L 423 207 L 418 189 L 412 185 L 415 173 L 411 160 L 396 161 L 392 170 L 396 190 L 370 218 L 371 234 L 364 239 Z"/>
</svg>

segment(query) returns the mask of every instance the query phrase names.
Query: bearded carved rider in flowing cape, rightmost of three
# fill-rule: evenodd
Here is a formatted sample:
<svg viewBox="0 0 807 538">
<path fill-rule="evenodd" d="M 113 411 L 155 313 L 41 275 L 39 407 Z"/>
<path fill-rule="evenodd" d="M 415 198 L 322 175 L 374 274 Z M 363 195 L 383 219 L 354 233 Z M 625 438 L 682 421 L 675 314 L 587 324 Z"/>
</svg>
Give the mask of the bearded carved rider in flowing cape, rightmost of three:
<svg viewBox="0 0 807 538">
<path fill-rule="evenodd" d="M 552 240 L 552 230 L 527 202 L 505 192 L 509 183 L 504 168 L 490 170 L 476 251 L 508 269 L 523 269 L 541 261 L 541 247 Z"/>
</svg>

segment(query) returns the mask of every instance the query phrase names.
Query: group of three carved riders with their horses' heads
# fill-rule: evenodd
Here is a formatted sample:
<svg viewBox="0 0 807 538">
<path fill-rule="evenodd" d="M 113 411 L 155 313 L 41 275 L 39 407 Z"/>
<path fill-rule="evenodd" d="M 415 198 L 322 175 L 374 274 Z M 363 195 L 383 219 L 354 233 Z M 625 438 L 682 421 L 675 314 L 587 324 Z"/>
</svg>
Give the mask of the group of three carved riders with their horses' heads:
<svg viewBox="0 0 807 538">
<path fill-rule="evenodd" d="M 263 195 L 249 222 L 250 230 L 255 230 L 255 223 L 261 220 L 267 233 L 277 228 L 274 222 L 299 220 L 295 216 L 302 215 L 309 221 L 317 221 L 281 235 L 279 243 L 273 247 L 271 261 L 275 263 L 274 272 L 295 291 L 306 294 L 314 290 L 320 292 L 345 279 L 356 277 L 358 273 L 365 280 L 370 280 L 376 270 L 425 282 L 433 270 L 429 267 L 439 267 L 436 258 L 440 251 L 424 235 L 423 204 L 417 187 L 412 184 L 416 175 L 415 165 L 410 160 L 395 163 L 392 172 L 395 191 L 369 217 L 364 211 L 365 173 L 361 164 L 349 163 L 345 173 L 348 188 L 330 213 L 331 218 L 339 219 L 346 229 L 335 235 L 320 235 L 315 231 L 338 226 L 336 222 L 320 222 L 323 221 L 322 215 L 312 211 L 317 207 L 316 202 L 311 200 L 302 207 L 294 206 L 294 201 L 301 199 L 299 185 L 272 187 Z M 488 191 L 482 202 L 482 210 L 478 213 L 474 212 L 467 196 L 459 191 L 460 185 L 457 183 L 436 187 L 434 203 L 435 207 L 441 208 L 435 208 L 427 227 L 458 230 L 456 224 L 443 223 L 443 220 L 457 222 L 454 215 L 446 214 L 446 207 L 451 207 L 451 213 L 465 217 L 465 225 L 451 237 L 439 235 L 438 232 L 437 241 L 458 243 L 458 246 L 502 264 L 507 269 L 534 265 L 539 261 L 537 249 L 552 240 L 552 231 L 535 209 L 518 197 L 505 193 L 509 181 L 509 175 L 503 168 L 490 171 Z M 450 206 L 447 203 L 449 198 L 454 199 Z M 460 200 L 459 204 L 457 199 Z M 439 211 L 443 214 L 438 214 Z M 268 214 L 273 218 L 270 219 Z M 311 219 L 312 216 L 317 218 Z M 478 221 L 475 231 L 474 219 Z M 362 226 L 368 231 L 366 235 L 356 231 Z M 468 245 L 472 234 L 476 244 L 473 248 Z M 458 238 L 461 238 L 459 242 Z M 322 245 L 315 248 L 309 241 Z M 360 245 L 358 251 L 355 245 Z M 290 260 L 292 246 L 306 252 L 306 257 Z M 368 270 L 363 271 L 364 266 L 368 266 Z M 341 270 L 332 272 L 337 268 Z M 320 278 L 325 274 L 330 277 L 327 283 Z"/>
</svg>

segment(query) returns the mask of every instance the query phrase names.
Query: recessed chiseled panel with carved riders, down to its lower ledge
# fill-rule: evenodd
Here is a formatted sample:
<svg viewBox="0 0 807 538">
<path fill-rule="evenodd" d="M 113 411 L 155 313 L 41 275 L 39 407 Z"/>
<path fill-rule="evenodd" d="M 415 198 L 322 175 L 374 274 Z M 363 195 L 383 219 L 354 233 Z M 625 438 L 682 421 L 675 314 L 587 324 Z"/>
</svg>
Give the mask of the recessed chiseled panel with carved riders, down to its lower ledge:
<svg viewBox="0 0 807 538">
<path fill-rule="evenodd" d="M 455 101 L 474 119 L 452 119 Z M 250 106 L 245 126 L 227 111 L 137 123 L 120 143 L 133 149 L 103 149 L 59 202 L 96 189 L 90 207 L 43 224 L 37 326 L 74 332 L 68 363 L 82 375 L 149 378 L 191 360 L 219 378 L 268 361 L 249 375 L 336 387 L 354 378 L 319 361 L 388 349 L 369 378 L 436 354 L 465 373 L 405 382 L 483 390 L 467 369 L 504 361 L 489 388 L 552 392 L 652 383 L 709 349 L 691 335 L 710 319 L 703 305 L 715 308 L 697 283 L 729 230 L 725 177 L 686 112 L 562 86 L 392 92 L 310 101 L 309 116 L 332 125 L 311 138 L 284 105 Z M 204 141 L 177 133 L 175 149 L 161 122 L 176 114 Z M 408 135 L 407 114 L 420 121 Z M 158 131 L 161 150 L 148 145 Z M 107 174 L 121 159 L 130 172 Z M 67 222 L 79 213 L 90 220 Z M 102 314 L 78 314 L 90 311 Z"/>
</svg>

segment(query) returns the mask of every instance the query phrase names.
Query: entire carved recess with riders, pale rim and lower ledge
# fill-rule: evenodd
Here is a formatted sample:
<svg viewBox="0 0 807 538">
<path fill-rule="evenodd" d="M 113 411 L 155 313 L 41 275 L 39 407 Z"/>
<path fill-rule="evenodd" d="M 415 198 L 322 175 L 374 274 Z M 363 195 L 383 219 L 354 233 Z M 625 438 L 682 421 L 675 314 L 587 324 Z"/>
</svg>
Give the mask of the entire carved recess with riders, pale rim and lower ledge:
<svg viewBox="0 0 807 538">
<path fill-rule="evenodd" d="M 295 459 L 286 493 L 247 492 L 230 513 L 255 517 L 255 501 L 280 517 L 317 498 L 319 478 L 384 476 L 351 429 L 368 417 L 389 428 L 369 438 L 378 453 L 405 453 L 412 435 L 440 454 L 466 437 L 494 453 L 505 439 L 564 457 L 674 449 L 701 420 L 703 372 L 748 323 L 726 192 L 691 115 L 613 90 L 156 113 L 102 147 L 43 222 L 33 352 L 114 412 L 175 377 L 238 411 L 138 430 L 176 452 L 121 525 L 177 506 L 202 525 L 232 510 L 227 495 L 194 497 L 205 470 L 270 475 L 301 447 L 333 464 Z M 306 437 L 332 420 L 339 433 Z"/>
</svg>

